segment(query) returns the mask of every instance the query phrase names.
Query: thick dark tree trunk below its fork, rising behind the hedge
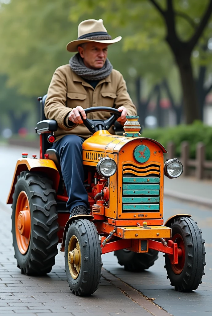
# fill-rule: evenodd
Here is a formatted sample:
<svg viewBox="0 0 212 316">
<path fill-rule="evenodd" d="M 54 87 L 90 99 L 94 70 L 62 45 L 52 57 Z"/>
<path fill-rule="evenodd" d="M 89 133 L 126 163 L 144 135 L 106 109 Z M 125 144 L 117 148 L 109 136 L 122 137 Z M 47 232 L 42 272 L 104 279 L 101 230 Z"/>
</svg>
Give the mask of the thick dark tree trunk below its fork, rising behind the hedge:
<svg viewBox="0 0 212 316">
<path fill-rule="evenodd" d="M 192 72 L 191 59 L 190 56 L 185 57 L 184 55 L 182 58 L 177 58 L 176 62 L 180 71 L 186 124 L 191 124 L 194 120 L 200 119 L 196 84 Z"/>
</svg>

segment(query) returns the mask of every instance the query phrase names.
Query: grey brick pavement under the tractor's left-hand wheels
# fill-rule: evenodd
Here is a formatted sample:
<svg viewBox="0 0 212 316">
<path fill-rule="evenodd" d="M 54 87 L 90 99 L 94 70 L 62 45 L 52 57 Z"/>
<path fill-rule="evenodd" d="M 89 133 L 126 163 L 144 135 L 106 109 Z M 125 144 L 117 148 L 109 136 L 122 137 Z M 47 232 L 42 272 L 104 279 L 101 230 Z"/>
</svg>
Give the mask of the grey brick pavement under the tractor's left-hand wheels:
<svg viewBox="0 0 212 316">
<path fill-rule="evenodd" d="M 138 294 L 135 292 L 133 299 L 126 296 L 125 290 L 121 291 L 119 285 L 114 285 L 116 281 L 111 281 L 112 283 L 109 281 L 108 272 L 105 272 L 106 276 L 103 273 L 104 277 L 94 295 L 90 297 L 73 295 L 66 282 L 64 258 L 61 253 L 56 256 L 56 264 L 47 276 L 21 275 L 20 269 L 16 267 L 12 247 L 11 214 L 6 210 L 6 208 L 0 209 L 0 315 L 9 316 L 15 313 L 25 316 L 152 314 L 148 312 L 145 305 L 146 302 L 149 303 L 147 300 L 139 296 L 139 299 L 145 302 L 143 305 L 142 303 L 138 305 L 135 300 Z M 131 289 L 130 291 L 132 292 Z M 155 305 L 149 304 L 156 308 Z M 161 310 L 158 308 L 156 310 L 158 310 L 157 315 L 161 315 Z"/>
</svg>

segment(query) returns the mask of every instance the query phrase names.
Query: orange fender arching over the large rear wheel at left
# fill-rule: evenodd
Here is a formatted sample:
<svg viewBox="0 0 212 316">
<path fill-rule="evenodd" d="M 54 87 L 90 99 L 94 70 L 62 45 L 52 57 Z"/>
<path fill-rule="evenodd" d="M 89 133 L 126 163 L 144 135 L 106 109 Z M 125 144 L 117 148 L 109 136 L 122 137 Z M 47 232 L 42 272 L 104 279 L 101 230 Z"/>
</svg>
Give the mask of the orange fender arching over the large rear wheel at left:
<svg viewBox="0 0 212 316">
<path fill-rule="evenodd" d="M 57 167 L 54 161 L 50 159 L 32 159 L 32 158 L 22 158 L 18 159 L 16 166 L 15 166 L 15 173 L 13 176 L 12 185 L 10 188 L 9 196 L 7 199 L 7 204 L 13 203 L 13 193 L 15 190 L 15 184 L 17 182 L 17 176 L 20 175 L 21 171 L 34 171 L 45 173 L 49 179 L 53 182 L 53 187 L 57 191 L 59 181 L 60 181 L 60 174 L 57 170 Z"/>
</svg>

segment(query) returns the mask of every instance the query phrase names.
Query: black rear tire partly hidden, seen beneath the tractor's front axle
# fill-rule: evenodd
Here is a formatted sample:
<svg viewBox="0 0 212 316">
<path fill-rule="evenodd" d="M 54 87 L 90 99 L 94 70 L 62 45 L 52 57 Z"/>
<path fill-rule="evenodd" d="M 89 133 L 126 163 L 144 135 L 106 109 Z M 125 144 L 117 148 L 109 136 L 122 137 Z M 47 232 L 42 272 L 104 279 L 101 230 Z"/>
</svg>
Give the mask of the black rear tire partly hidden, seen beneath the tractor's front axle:
<svg viewBox="0 0 212 316">
<path fill-rule="evenodd" d="M 148 252 L 137 253 L 127 249 L 116 250 L 114 255 L 125 270 L 140 272 L 149 269 L 158 258 L 158 251 L 149 249 Z"/>
</svg>

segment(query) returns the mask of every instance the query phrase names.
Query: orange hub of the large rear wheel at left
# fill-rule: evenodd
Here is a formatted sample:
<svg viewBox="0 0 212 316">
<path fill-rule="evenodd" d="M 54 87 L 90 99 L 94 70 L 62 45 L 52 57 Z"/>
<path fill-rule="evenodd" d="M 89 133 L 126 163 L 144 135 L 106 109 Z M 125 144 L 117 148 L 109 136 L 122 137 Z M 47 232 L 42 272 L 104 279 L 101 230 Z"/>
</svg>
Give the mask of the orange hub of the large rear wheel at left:
<svg viewBox="0 0 212 316">
<path fill-rule="evenodd" d="M 27 194 L 19 193 L 15 209 L 15 234 L 18 249 L 22 254 L 27 252 L 31 235 L 31 214 Z"/>
</svg>

